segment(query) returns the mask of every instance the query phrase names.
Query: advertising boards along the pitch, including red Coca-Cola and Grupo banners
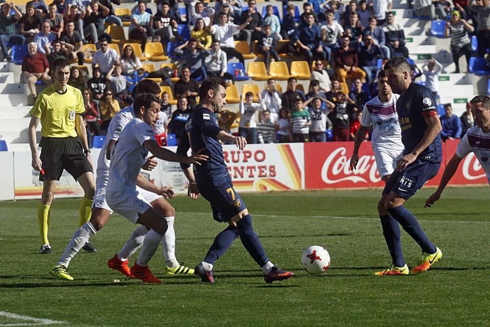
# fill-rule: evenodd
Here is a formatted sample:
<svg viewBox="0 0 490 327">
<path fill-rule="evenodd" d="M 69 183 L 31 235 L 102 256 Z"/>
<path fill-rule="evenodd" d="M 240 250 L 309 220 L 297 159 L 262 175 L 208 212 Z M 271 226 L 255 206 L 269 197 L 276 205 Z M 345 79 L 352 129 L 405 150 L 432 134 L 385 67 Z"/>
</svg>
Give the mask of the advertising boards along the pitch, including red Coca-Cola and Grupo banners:
<svg viewBox="0 0 490 327">
<path fill-rule="evenodd" d="M 439 184 L 445 164 L 451 159 L 458 140 L 443 144 L 443 161 L 436 177 L 428 185 Z M 244 151 L 233 145 L 223 147 L 223 155 L 235 188 L 240 192 L 281 191 L 329 188 L 382 187 L 370 142 L 359 151 L 356 171 L 349 169 L 353 142 L 251 144 Z M 175 151 L 176 147 L 169 147 Z M 97 164 L 100 149 L 93 149 Z M 39 199 L 42 183 L 39 172 L 31 167 L 28 151 L 0 152 L 0 200 Z M 180 165 L 158 159 L 158 166 L 143 175 L 157 186 L 173 185 L 176 193 L 187 192 L 187 180 Z M 94 167 L 96 169 L 96 167 Z M 487 184 L 476 156 L 470 153 L 460 164 L 450 185 Z M 56 189 L 57 197 L 81 197 L 83 190 L 64 172 Z"/>
</svg>

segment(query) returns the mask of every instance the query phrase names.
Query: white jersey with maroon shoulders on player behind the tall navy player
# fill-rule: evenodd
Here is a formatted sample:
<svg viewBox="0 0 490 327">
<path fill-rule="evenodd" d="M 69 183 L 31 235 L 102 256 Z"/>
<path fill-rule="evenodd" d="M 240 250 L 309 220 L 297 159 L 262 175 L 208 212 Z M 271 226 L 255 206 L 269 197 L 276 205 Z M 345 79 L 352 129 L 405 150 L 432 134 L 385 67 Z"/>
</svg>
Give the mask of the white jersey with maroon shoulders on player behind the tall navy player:
<svg viewBox="0 0 490 327">
<path fill-rule="evenodd" d="M 403 151 L 401 128 L 396 113 L 396 101 L 400 96 L 393 94 L 388 102 L 375 97 L 364 105 L 361 125 L 372 126 L 372 149 Z"/>
</svg>

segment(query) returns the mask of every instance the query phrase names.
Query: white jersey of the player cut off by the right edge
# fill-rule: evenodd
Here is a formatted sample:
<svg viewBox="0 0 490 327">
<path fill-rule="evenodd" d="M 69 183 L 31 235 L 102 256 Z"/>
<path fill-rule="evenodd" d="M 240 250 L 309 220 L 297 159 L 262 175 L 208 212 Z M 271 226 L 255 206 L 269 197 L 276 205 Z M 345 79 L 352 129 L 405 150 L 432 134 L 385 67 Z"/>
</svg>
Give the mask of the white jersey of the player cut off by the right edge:
<svg viewBox="0 0 490 327">
<path fill-rule="evenodd" d="M 485 133 L 478 126 L 468 129 L 458 144 L 456 155 L 464 158 L 469 152 L 473 152 L 478 158 L 490 185 L 490 133 Z"/>
</svg>

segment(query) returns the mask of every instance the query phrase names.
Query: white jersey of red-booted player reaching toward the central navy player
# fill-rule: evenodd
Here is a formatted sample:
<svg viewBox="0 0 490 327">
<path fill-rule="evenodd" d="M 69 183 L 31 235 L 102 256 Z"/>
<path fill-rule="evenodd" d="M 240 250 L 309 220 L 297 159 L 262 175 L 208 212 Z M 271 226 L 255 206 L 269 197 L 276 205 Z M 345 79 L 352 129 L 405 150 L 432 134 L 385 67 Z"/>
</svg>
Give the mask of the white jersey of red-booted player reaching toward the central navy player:
<svg viewBox="0 0 490 327">
<path fill-rule="evenodd" d="M 141 119 L 133 118 L 124 127 L 111 153 L 107 193 L 135 192 L 136 179 L 148 154 L 143 147 L 147 140 L 156 141 L 151 126 Z"/>
</svg>

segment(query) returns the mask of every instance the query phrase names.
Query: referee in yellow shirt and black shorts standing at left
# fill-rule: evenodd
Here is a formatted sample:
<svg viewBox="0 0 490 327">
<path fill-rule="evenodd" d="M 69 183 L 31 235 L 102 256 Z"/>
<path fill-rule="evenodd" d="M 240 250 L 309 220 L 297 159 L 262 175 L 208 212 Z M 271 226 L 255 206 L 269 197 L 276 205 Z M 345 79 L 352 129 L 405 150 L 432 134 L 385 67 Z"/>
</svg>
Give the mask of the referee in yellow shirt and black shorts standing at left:
<svg viewBox="0 0 490 327">
<path fill-rule="evenodd" d="M 32 167 L 39 171 L 43 196 L 37 210 L 41 236 L 39 253 L 51 253 L 48 241 L 49 208 L 54 197 L 56 181 L 65 169 L 77 180 L 85 195 L 80 204 L 79 226 L 90 220 L 95 193 L 94 173 L 90 159 L 87 133 L 83 122 L 85 106 L 80 90 L 67 85 L 70 66 L 65 59 L 56 59 L 51 67 L 54 83 L 39 94 L 29 111 L 29 145 Z M 36 128 L 41 123 L 41 155 L 37 152 Z M 84 250 L 95 252 L 86 243 Z"/>
</svg>

